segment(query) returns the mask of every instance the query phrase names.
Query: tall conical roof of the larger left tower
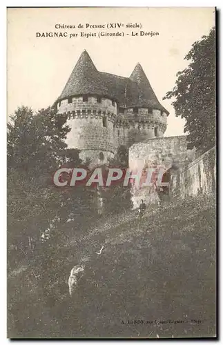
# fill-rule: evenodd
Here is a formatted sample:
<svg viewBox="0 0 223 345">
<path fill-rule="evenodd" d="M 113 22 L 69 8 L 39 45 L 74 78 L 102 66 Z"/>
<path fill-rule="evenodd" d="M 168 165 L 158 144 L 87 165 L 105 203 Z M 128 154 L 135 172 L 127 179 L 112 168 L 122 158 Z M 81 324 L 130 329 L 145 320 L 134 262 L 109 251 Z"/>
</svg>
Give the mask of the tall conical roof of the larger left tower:
<svg viewBox="0 0 223 345">
<path fill-rule="evenodd" d="M 84 50 L 57 100 L 73 95 L 90 93 L 104 96 L 108 95 L 108 89 L 104 85 L 101 75 L 97 71 L 92 59 L 90 59 L 88 52 Z"/>
</svg>

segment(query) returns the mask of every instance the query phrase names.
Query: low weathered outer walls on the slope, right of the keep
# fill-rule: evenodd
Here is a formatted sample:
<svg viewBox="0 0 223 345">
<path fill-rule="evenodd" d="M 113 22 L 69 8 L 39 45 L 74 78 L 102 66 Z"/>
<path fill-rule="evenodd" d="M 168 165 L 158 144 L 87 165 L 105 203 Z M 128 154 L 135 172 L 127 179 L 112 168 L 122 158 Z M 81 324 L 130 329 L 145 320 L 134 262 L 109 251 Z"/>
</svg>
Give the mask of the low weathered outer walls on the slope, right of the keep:
<svg viewBox="0 0 223 345">
<path fill-rule="evenodd" d="M 171 198 L 185 199 L 198 194 L 215 193 L 216 157 L 215 148 L 197 157 L 195 149 L 186 148 L 186 136 L 151 139 L 135 144 L 129 149 L 129 166 L 133 171 L 140 170 L 148 164 L 163 166 L 171 170 Z M 146 204 L 159 201 L 154 187 L 133 188 L 133 206 L 137 208 L 140 200 Z"/>
</svg>

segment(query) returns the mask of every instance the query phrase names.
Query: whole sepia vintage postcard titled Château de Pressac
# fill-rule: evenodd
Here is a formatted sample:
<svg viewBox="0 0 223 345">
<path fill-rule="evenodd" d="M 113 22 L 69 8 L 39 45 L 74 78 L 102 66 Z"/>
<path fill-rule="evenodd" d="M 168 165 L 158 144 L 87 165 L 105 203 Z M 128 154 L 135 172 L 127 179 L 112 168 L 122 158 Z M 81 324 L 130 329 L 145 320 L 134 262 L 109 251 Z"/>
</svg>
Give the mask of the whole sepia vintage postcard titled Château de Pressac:
<svg viewBox="0 0 223 345">
<path fill-rule="evenodd" d="M 215 8 L 8 8 L 8 337 L 216 337 Z"/>
</svg>

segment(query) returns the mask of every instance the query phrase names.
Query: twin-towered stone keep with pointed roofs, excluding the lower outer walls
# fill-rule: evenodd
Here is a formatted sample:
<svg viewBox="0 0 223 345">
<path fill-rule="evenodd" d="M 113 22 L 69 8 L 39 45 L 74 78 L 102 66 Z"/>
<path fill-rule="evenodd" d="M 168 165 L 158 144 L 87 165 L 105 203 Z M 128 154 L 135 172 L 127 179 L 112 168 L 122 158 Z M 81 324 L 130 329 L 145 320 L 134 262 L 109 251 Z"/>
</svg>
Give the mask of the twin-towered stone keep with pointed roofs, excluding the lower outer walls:
<svg viewBox="0 0 223 345">
<path fill-rule="evenodd" d="M 99 72 L 86 50 L 56 105 L 59 114 L 68 114 L 68 147 L 97 164 L 112 158 L 120 145 L 163 137 L 169 114 L 139 63 L 129 78 L 111 75 Z"/>
</svg>

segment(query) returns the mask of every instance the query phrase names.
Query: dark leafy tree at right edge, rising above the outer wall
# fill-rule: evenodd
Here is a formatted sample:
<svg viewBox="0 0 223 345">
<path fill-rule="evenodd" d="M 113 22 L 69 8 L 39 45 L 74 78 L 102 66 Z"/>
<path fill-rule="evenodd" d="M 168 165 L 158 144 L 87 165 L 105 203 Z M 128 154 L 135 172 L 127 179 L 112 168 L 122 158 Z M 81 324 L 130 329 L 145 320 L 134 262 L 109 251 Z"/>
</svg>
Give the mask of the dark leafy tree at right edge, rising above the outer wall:
<svg viewBox="0 0 223 345">
<path fill-rule="evenodd" d="M 215 28 L 193 43 L 184 59 L 190 63 L 177 72 L 176 85 L 164 99 L 175 97 L 175 114 L 186 120 L 188 148 L 205 152 L 215 145 Z"/>
</svg>

